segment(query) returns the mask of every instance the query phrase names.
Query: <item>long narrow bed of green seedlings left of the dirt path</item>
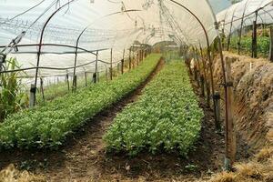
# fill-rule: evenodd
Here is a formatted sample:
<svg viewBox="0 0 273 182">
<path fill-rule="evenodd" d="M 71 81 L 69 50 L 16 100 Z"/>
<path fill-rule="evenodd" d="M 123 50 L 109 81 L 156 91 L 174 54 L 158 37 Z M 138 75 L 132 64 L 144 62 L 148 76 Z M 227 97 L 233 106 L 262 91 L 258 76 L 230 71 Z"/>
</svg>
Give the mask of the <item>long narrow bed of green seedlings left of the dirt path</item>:
<svg viewBox="0 0 273 182">
<path fill-rule="evenodd" d="M 57 147 L 67 135 L 132 92 L 157 66 L 160 55 L 150 55 L 130 72 L 111 82 L 88 86 L 73 95 L 58 97 L 45 106 L 8 116 L 0 124 L 0 147 Z"/>
</svg>

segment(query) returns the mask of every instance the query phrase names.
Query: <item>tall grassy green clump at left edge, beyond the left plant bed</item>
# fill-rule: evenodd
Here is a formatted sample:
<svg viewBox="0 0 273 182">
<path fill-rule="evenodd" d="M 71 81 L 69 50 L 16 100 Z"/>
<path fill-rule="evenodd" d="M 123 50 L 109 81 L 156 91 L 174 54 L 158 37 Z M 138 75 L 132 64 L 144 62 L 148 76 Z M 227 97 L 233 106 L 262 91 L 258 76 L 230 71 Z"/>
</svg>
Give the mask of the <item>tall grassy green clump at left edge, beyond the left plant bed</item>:
<svg viewBox="0 0 273 182">
<path fill-rule="evenodd" d="M 14 70 L 18 67 L 15 58 L 10 58 L 6 64 L 6 70 Z M 5 73 L 0 76 L 0 123 L 9 114 L 15 113 L 21 107 L 25 107 L 28 99 L 23 91 L 21 81 L 17 73 Z"/>
</svg>

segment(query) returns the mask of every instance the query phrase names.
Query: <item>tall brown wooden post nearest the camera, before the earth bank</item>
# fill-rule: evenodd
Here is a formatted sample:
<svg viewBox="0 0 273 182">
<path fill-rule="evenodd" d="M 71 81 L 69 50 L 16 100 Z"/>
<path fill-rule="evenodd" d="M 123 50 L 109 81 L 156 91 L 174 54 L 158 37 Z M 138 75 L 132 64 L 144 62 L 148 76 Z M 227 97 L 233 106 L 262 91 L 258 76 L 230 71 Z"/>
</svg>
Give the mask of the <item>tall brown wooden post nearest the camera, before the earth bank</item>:
<svg viewBox="0 0 273 182">
<path fill-rule="evenodd" d="M 226 158 L 225 167 L 229 170 L 236 157 L 236 136 L 233 123 L 233 82 L 231 78 L 231 60 L 227 59 L 227 120 L 226 120 Z"/>
</svg>

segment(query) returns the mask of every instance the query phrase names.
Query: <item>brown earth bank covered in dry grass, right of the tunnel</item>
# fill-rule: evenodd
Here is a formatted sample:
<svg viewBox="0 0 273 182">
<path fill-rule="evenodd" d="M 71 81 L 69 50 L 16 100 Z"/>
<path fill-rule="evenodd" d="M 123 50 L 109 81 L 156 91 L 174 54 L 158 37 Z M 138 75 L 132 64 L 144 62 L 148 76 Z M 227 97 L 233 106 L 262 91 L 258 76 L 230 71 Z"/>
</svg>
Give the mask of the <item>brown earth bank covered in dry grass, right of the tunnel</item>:
<svg viewBox="0 0 273 182">
<path fill-rule="evenodd" d="M 231 61 L 235 91 L 235 123 L 252 151 L 273 142 L 273 63 L 224 53 Z M 223 92 L 220 59 L 214 61 L 214 79 Z M 223 95 L 222 95 L 223 96 Z"/>
</svg>

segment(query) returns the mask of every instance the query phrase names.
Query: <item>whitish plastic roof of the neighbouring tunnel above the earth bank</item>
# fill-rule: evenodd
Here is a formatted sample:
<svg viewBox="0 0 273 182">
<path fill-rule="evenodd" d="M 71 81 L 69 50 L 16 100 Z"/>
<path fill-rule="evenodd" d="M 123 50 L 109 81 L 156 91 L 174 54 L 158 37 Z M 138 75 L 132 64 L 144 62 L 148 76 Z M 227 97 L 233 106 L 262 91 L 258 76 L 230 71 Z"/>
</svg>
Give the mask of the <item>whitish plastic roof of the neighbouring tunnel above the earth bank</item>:
<svg viewBox="0 0 273 182">
<path fill-rule="evenodd" d="M 243 0 L 218 13 L 217 22 L 220 22 L 223 26 L 225 35 L 238 30 L 241 27 L 242 20 L 243 27 L 252 25 L 253 21 L 256 20 L 255 12 L 258 12 L 258 24 L 272 24 L 272 5 L 272 0 Z"/>
</svg>

